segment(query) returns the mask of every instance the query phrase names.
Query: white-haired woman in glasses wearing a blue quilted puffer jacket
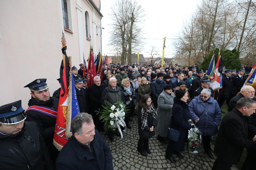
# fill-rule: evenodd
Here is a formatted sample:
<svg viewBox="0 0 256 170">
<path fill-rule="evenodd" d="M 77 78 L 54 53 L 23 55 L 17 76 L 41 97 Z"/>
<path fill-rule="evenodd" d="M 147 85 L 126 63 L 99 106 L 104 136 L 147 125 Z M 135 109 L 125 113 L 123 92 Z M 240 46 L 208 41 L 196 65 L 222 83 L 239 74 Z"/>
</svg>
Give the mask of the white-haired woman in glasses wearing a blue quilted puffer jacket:
<svg viewBox="0 0 256 170">
<path fill-rule="evenodd" d="M 196 127 L 202 133 L 203 148 L 211 159 L 214 159 L 211 148 L 211 136 L 217 133 L 217 127 L 221 123 L 221 109 L 218 102 L 211 97 L 210 89 L 203 89 L 201 94 L 196 96 L 190 104 L 189 113 L 191 119 L 196 122 Z"/>
</svg>

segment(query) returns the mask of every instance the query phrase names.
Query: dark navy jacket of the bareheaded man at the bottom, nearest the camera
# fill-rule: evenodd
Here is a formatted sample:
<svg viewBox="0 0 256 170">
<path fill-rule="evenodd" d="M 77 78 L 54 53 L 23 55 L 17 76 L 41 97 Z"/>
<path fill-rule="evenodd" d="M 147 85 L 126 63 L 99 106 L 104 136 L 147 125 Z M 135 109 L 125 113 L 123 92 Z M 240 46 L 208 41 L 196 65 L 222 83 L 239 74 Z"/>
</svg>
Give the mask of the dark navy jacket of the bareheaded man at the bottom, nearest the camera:
<svg viewBox="0 0 256 170">
<path fill-rule="evenodd" d="M 61 149 L 56 160 L 56 170 L 112 170 L 112 155 L 108 144 L 101 138 L 95 129 L 93 141 L 95 157 L 89 155 L 82 144 L 79 144 L 74 136 Z"/>
</svg>

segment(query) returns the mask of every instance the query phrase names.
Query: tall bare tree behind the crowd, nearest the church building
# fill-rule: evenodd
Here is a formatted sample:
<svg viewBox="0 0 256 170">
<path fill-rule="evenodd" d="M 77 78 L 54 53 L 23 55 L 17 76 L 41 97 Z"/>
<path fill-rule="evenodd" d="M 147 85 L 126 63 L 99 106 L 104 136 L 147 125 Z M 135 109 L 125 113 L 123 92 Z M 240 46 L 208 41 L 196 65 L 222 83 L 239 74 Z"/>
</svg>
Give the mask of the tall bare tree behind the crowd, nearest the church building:
<svg viewBox="0 0 256 170">
<path fill-rule="evenodd" d="M 132 52 L 138 51 L 143 45 L 140 38 L 143 34 L 144 9 L 137 0 L 117 0 L 110 14 L 113 22 L 108 45 L 111 51 L 121 53 L 122 63 L 131 63 Z"/>
</svg>

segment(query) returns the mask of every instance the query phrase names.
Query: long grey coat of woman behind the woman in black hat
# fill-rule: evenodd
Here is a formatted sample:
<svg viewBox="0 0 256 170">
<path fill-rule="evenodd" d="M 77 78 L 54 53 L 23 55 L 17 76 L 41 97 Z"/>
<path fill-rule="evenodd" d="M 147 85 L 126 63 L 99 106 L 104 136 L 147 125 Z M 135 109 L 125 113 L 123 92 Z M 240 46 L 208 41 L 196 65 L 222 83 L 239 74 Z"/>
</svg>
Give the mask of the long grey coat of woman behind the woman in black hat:
<svg viewBox="0 0 256 170">
<path fill-rule="evenodd" d="M 167 137 L 168 125 L 171 119 L 173 98 L 175 97 L 172 92 L 170 95 L 163 90 L 157 100 L 157 133 L 161 137 Z"/>
</svg>

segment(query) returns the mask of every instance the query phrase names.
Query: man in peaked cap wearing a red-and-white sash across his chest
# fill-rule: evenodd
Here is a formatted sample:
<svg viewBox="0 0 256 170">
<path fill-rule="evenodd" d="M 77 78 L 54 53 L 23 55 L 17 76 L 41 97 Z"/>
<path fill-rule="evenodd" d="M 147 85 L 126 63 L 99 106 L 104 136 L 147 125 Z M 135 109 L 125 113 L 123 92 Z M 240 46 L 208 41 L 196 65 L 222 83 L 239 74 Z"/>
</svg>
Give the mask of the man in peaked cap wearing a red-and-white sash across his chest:
<svg viewBox="0 0 256 170">
<path fill-rule="evenodd" d="M 40 134 L 44 138 L 53 163 L 55 163 L 59 151 L 53 145 L 53 134 L 59 100 L 55 97 L 50 97 L 46 78 L 36 79 L 24 87 L 28 87 L 31 92 L 31 99 L 28 103 L 29 108 L 26 110 L 26 121 L 32 121 L 38 125 Z"/>
</svg>

